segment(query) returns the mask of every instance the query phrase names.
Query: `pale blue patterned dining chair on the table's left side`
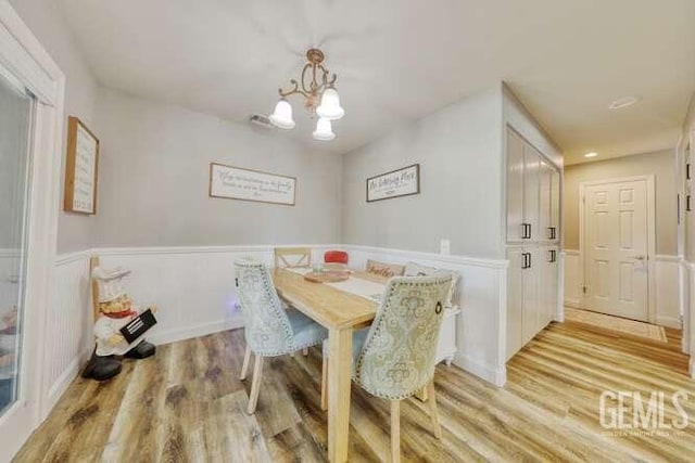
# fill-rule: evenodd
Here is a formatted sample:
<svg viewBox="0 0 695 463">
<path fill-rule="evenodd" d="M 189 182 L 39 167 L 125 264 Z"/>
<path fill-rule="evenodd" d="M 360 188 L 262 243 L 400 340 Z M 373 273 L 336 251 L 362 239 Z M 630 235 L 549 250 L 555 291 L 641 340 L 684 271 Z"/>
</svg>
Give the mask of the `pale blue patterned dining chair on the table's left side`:
<svg viewBox="0 0 695 463">
<path fill-rule="evenodd" d="M 253 414 L 261 388 L 263 359 L 316 346 L 328 337 L 328 332 L 302 312 L 282 308 L 265 265 L 249 260 L 236 261 L 235 273 L 247 339 L 241 380 L 247 378 L 251 352 L 255 355 L 247 407 L 247 413 Z"/>
</svg>

